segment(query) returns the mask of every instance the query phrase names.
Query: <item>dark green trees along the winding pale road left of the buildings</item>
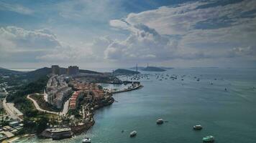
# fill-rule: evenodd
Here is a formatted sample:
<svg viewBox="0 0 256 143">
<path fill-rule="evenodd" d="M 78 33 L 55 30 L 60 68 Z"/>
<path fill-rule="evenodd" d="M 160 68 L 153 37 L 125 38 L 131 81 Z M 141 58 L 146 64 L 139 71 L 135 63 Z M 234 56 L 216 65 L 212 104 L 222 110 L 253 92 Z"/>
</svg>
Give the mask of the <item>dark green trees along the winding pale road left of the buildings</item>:
<svg viewBox="0 0 256 143">
<path fill-rule="evenodd" d="M 47 122 L 49 119 L 45 116 L 45 113 L 38 112 L 35 109 L 32 102 L 27 99 L 27 94 L 33 94 L 35 92 L 42 92 L 47 84 L 48 77 L 41 77 L 35 82 L 24 84 L 21 87 L 17 87 L 16 92 L 9 92 L 6 98 L 7 102 L 14 102 L 15 107 L 24 114 L 24 129 L 23 133 L 37 133 L 39 134 L 47 128 Z"/>
</svg>

